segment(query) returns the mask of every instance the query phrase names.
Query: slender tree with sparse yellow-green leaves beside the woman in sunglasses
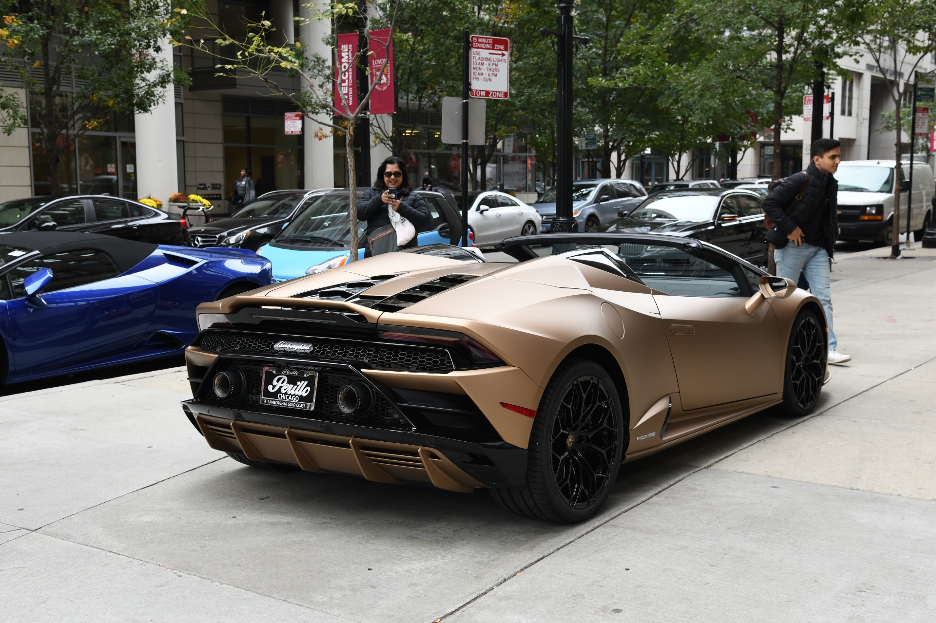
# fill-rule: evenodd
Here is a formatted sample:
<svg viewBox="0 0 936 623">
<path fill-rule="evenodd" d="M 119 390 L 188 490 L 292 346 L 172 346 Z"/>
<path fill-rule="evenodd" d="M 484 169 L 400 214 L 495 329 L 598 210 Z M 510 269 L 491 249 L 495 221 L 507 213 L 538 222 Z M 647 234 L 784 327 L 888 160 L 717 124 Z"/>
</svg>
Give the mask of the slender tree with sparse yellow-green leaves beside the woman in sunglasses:
<svg viewBox="0 0 936 623">
<path fill-rule="evenodd" d="M 388 13 L 378 14 L 369 21 L 371 26 L 383 26 L 390 29 L 390 36 L 396 32 L 396 19 L 399 0 L 393 0 L 387 8 Z M 313 21 L 329 23 L 351 21 L 357 24 L 363 16 L 358 3 L 323 4 L 310 2 L 303 5 L 309 10 L 309 17 L 297 18 L 297 23 L 307 25 Z M 336 49 L 336 58 L 325 58 L 310 50 L 310 43 L 298 39 L 295 44 L 284 42 L 276 33 L 276 26 L 260 16 L 258 22 L 245 20 L 242 33 L 229 33 L 223 24 L 204 7 L 194 12 L 196 22 L 192 34 L 173 40 L 176 45 L 192 48 L 211 56 L 216 65 L 217 76 L 236 79 L 259 80 L 269 94 L 288 99 L 304 117 L 319 124 L 315 132 L 324 136 L 322 127 L 330 128 L 338 136 L 344 136 L 344 152 L 347 162 L 347 179 L 350 181 L 348 220 L 351 227 L 348 259 L 357 261 L 358 254 L 358 179 L 357 164 L 354 157 L 355 128 L 361 118 L 367 114 L 371 95 L 387 70 L 384 64 L 373 76 L 366 94 L 360 97 L 356 106 L 353 101 L 337 88 L 336 83 L 344 83 L 349 77 L 358 75 L 359 69 L 365 69 L 370 76 L 370 53 L 374 46 L 382 45 L 385 51 L 389 41 L 369 40 L 369 52 L 358 49 L 355 53 L 337 51 L 337 39 L 332 29 L 329 44 Z M 385 56 L 386 58 L 386 56 Z M 335 66 L 338 66 L 336 70 Z M 283 71 L 285 69 L 285 72 Z M 294 88 L 294 79 L 301 83 L 299 92 Z M 357 80 L 354 80 L 355 82 Z M 369 146 L 365 146 L 365 149 Z"/>
</svg>

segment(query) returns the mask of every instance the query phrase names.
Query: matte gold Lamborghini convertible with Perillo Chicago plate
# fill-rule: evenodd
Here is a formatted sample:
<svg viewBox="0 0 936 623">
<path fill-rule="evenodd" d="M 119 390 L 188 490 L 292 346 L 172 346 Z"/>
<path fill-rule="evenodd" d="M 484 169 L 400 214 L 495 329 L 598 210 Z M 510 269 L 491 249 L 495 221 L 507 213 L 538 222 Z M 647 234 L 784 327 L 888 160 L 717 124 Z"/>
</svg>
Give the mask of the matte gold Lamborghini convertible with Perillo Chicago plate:
<svg viewBox="0 0 936 623">
<path fill-rule="evenodd" d="M 202 304 L 184 412 L 247 465 L 486 487 L 576 522 L 623 461 L 771 405 L 809 413 L 828 379 L 819 301 L 705 242 L 499 251 L 430 245 Z"/>
</svg>

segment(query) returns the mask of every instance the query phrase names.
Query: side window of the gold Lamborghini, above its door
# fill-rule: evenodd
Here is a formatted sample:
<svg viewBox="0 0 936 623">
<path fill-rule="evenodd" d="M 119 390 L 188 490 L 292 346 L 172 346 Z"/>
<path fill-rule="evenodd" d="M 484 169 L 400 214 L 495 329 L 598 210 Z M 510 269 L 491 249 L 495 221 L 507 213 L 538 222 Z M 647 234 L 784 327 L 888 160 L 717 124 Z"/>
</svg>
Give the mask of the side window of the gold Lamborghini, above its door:
<svg viewBox="0 0 936 623">
<path fill-rule="evenodd" d="M 735 278 L 734 265 L 725 258 L 691 254 L 679 247 L 624 243 L 618 256 L 651 288 L 678 297 L 745 297 Z"/>
</svg>

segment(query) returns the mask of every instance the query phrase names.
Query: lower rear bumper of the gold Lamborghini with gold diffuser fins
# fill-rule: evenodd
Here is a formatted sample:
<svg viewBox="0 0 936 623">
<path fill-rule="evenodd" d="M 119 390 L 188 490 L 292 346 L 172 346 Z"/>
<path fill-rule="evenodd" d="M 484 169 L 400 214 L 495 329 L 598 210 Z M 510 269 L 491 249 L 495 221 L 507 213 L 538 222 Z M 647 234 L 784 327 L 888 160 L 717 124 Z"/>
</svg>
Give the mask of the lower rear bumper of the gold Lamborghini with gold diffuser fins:
<svg viewBox="0 0 936 623">
<path fill-rule="evenodd" d="M 527 451 L 507 442 L 465 442 L 400 430 L 246 412 L 184 400 L 183 411 L 222 452 L 304 471 L 361 476 L 469 493 L 476 487 L 521 486 Z"/>
</svg>

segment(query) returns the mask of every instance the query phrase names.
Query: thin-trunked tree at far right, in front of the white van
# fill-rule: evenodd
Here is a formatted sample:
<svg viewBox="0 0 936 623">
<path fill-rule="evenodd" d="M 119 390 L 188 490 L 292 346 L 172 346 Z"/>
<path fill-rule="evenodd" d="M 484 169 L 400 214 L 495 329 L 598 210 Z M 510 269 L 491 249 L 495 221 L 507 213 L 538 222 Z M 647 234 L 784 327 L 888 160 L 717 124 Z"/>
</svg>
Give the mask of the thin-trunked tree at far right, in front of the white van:
<svg viewBox="0 0 936 623">
<path fill-rule="evenodd" d="M 921 63 L 936 52 L 936 3 L 929 0 L 845 0 L 839 13 L 841 44 L 866 51 L 877 67 L 894 105 L 894 160 L 902 156 L 901 103 L 914 88 Z M 899 188 L 902 167 L 895 167 Z M 894 193 L 891 258 L 899 257 L 900 193 Z"/>
</svg>

